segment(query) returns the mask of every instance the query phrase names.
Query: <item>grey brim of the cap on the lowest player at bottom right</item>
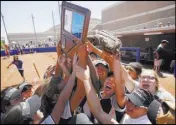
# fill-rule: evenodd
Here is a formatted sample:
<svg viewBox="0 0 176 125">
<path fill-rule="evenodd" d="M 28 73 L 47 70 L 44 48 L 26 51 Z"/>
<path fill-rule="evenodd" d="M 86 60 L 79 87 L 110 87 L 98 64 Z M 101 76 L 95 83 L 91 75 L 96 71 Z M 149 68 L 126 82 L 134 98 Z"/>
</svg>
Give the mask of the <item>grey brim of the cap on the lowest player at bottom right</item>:
<svg viewBox="0 0 176 125">
<path fill-rule="evenodd" d="M 143 103 L 138 99 L 136 98 L 135 95 L 133 95 L 133 93 L 131 94 L 126 94 L 126 96 L 128 97 L 128 99 L 136 106 L 144 106 Z"/>
</svg>

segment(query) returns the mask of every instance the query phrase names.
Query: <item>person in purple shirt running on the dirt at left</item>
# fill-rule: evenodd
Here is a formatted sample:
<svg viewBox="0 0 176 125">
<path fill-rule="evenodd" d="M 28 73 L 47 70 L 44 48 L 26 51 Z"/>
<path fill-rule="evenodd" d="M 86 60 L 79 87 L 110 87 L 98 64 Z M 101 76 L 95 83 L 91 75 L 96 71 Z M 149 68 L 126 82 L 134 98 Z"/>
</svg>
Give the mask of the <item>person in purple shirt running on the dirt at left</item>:
<svg viewBox="0 0 176 125">
<path fill-rule="evenodd" d="M 16 65 L 21 77 L 23 78 L 23 81 L 25 81 L 25 77 L 24 77 L 24 69 L 23 69 L 23 62 L 21 60 L 18 59 L 18 56 L 15 55 L 13 56 L 13 62 L 11 62 L 7 68 L 9 68 L 12 64 Z"/>
</svg>

